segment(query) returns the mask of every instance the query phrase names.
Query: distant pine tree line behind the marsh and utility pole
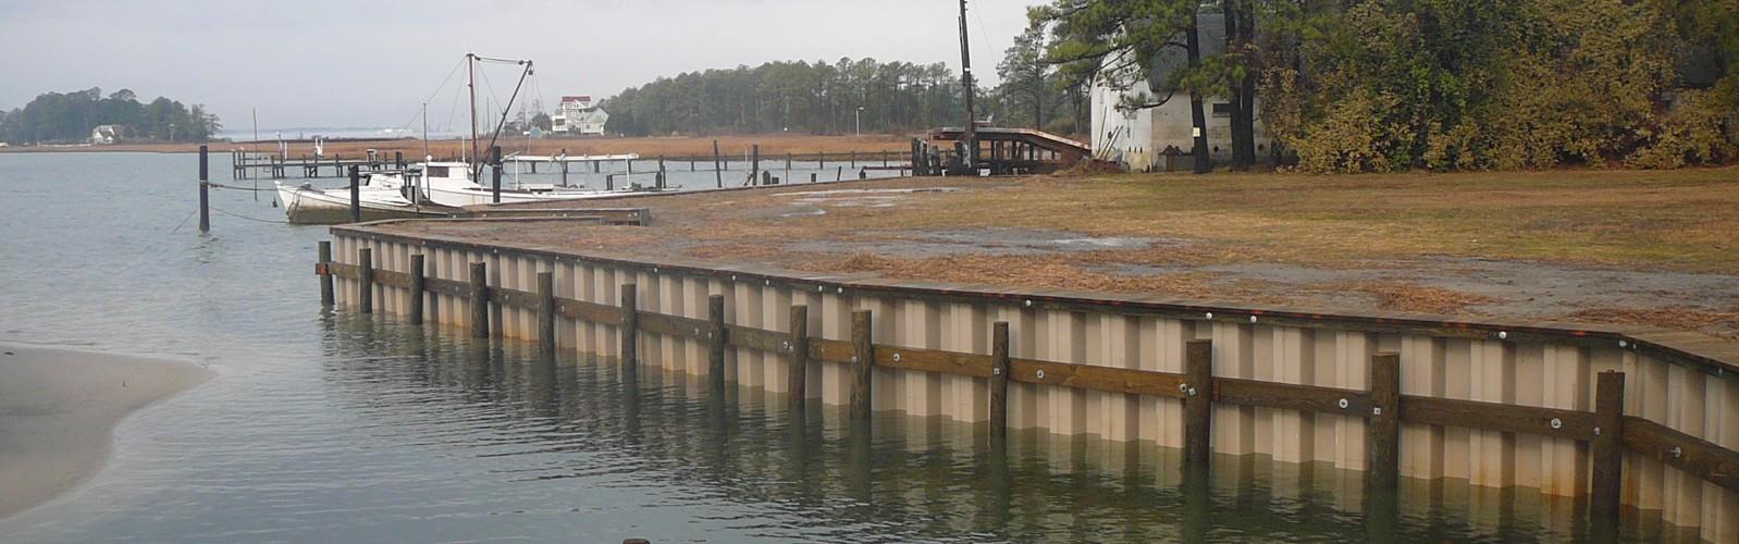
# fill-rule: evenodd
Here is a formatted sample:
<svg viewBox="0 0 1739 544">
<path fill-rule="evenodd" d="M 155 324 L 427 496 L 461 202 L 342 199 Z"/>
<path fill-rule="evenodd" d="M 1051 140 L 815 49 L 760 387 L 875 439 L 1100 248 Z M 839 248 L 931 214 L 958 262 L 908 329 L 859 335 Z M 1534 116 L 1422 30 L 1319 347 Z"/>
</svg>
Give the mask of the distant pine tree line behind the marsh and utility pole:
<svg viewBox="0 0 1739 544">
<path fill-rule="evenodd" d="M 1059 87 L 1049 73 L 1040 78 L 1043 87 L 1031 92 L 1043 108 L 1028 108 L 1033 94 L 1005 82 L 974 90 L 977 116 L 1085 132 L 1085 87 Z M 610 113 L 605 130 L 623 136 L 913 132 L 960 127 L 963 89 L 960 73 L 944 63 L 777 61 L 659 78 L 600 106 Z"/>
</svg>

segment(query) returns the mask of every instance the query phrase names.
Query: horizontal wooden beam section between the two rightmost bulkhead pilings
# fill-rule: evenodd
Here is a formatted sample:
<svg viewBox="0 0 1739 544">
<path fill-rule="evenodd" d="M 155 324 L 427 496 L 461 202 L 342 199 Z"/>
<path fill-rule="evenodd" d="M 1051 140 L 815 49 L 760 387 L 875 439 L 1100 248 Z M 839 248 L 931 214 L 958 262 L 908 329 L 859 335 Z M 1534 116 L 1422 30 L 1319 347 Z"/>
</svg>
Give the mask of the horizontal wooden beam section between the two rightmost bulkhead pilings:
<svg viewBox="0 0 1739 544">
<path fill-rule="evenodd" d="M 1454 398 L 1402 395 L 1402 421 L 1551 438 L 1595 438 L 1595 414 L 1591 412 Z"/>
</svg>

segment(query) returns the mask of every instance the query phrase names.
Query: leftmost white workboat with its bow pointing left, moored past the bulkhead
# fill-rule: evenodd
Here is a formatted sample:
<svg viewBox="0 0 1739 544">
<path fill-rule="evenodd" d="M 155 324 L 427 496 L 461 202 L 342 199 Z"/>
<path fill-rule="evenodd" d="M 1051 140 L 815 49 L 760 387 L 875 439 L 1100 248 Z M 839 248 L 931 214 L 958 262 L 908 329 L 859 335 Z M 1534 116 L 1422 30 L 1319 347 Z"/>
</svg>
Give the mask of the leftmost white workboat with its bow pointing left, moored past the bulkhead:
<svg viewBox="0 0 1739 544">
<path fill-rule="evenodd" d="M 416 198 L 416 172 L 369 172 L 358 181 L 356 203 L 362 221 L 379 219 L 414 219 L 445 217 L 457 209 Z M 283 214 L 290 222 L 299 224 L 339 224 L 350 222 L 350 188 L 318 189 L 313 184 L 299 186 L 277 182 L 278 200 L 283 202 Z"/>
</svg>

